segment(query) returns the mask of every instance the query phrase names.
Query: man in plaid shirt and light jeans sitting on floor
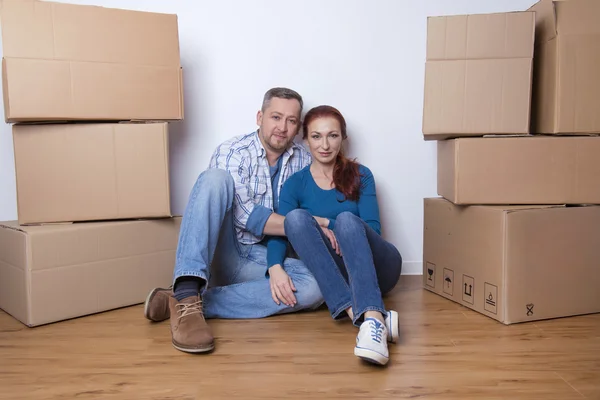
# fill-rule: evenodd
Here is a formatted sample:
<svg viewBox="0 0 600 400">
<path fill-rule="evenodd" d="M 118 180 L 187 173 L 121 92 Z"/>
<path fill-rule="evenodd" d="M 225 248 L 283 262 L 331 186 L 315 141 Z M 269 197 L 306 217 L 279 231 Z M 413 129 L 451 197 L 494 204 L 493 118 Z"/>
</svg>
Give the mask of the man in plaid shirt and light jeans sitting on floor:
<svg viewBox="0 0 600 400">
<path fill-rule="evenodd" d="M 311 161 L 293 142 L 302 107 L 293 90 L 267 91 L 256 117 L 259 129 L 219 145 L 198 177 L 181 224 L 173 291 L 152 290 L 144 307 L 152 321 L 170 318 L 176 349 L 214 349 L 205 318 L 262 318 L 323 303 L 300 260 L 267 268 L 266 240 L 285 234 L 284 218 L 276 213 L 279 189 Z"/>
</svg>

